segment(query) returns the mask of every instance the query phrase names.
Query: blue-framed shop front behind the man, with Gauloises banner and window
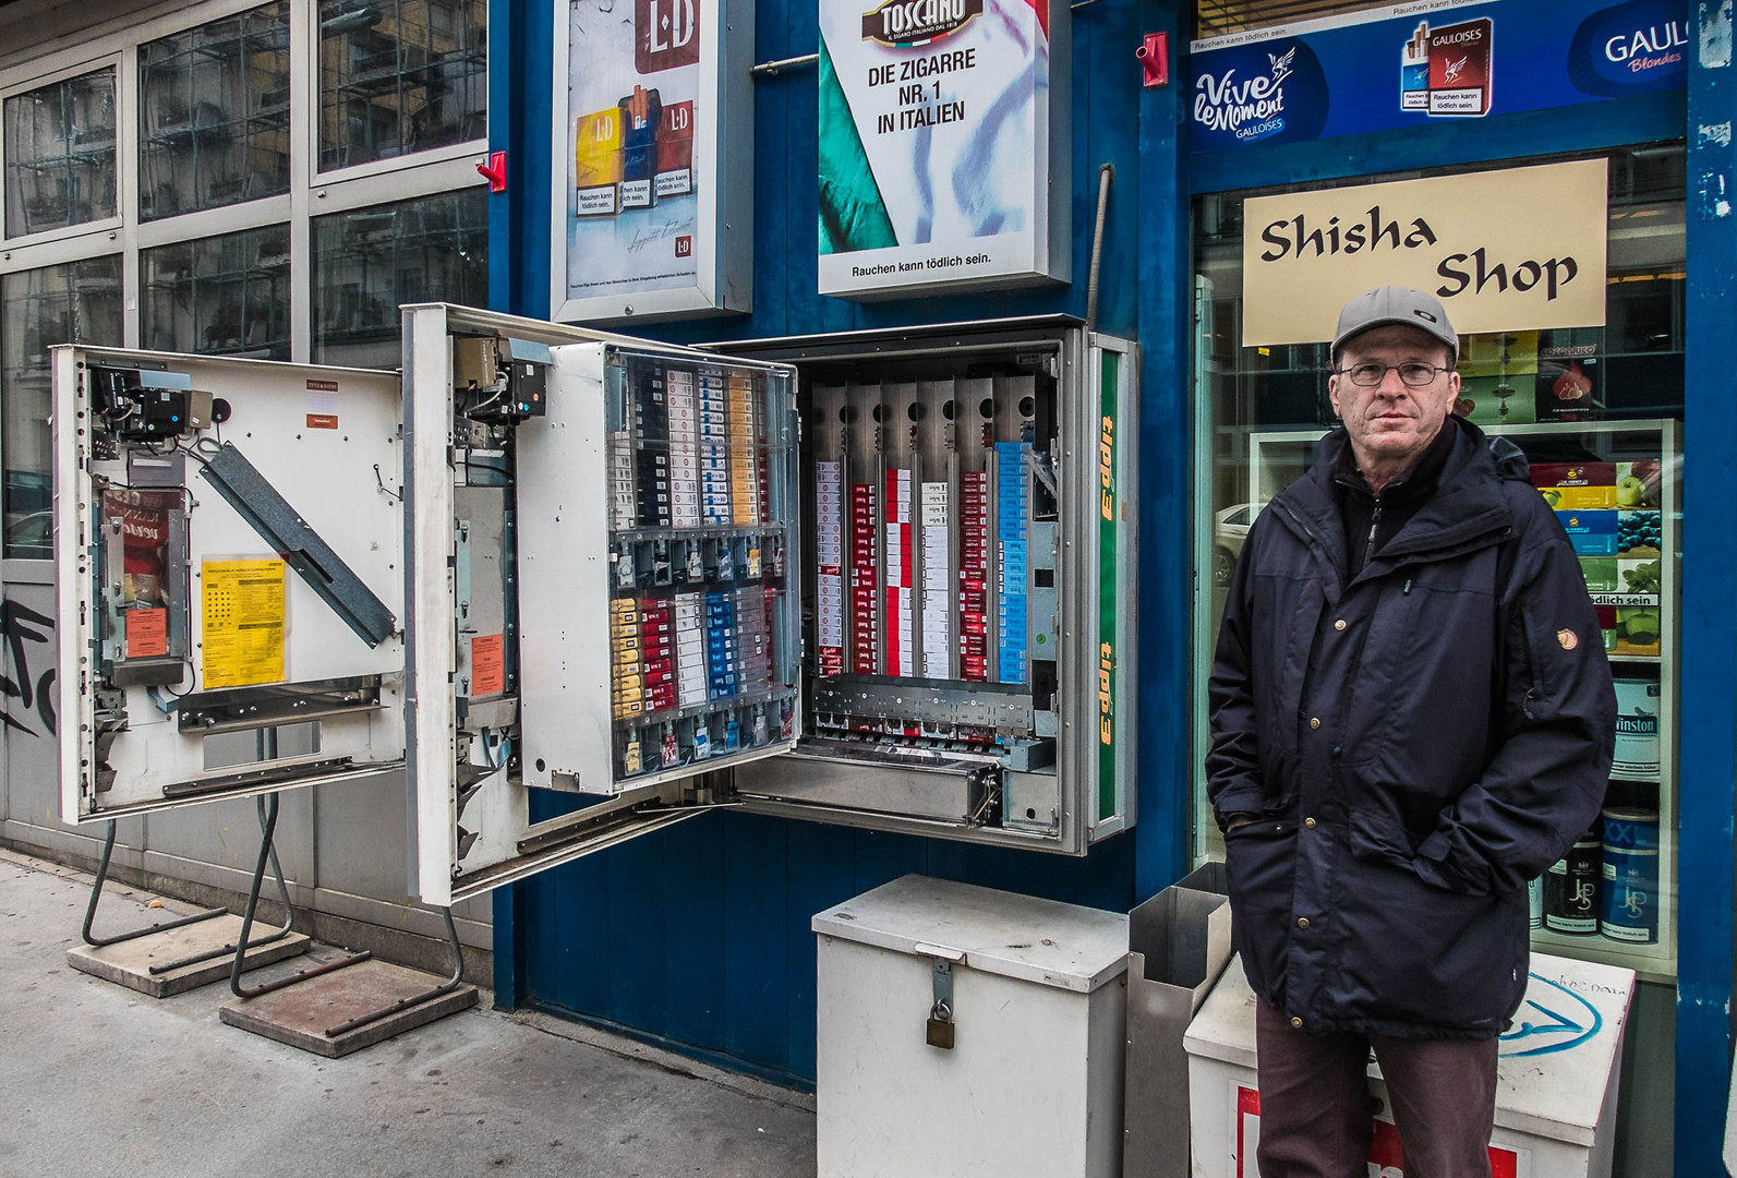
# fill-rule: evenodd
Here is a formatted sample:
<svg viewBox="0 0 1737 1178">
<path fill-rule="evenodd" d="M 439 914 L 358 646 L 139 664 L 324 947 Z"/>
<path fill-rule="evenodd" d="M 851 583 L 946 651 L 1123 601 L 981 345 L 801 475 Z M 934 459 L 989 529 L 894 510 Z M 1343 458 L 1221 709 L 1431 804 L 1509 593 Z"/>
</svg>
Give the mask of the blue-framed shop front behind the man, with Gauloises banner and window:
<svg viewBox="0 0 1737 1178">
<path fill-rule="evenodd" d="M 1244 537 L 1334 424 L 1337 308 L 1390 281 L 1435 292 L 1461 334 L 1456 412 L 1525 450 L 1617 685 L 1603 813 L 1534 884 L 1534 950 L 1640 976 L 1617 1173 L 1668 1173 L 1673 1117 L 1676 1173 L 1707 1173 L 1692 1159 L 1725 1096 L 1734 629 L 1728 528 L 1697 488 L 1730 464 L 1728 308 L 1707 306 L 1728 292 L 1728 205 L 1707 184 L 1730 136 L 1685 139 L 1685 92 L 1699 109 L 1725 63 L 1697 61 L 1671 3 L 1284 5 L 1301 19 L 1282 26 L 1238 7 L 1199 7 L 1185 75 L 1197 747 Z M 1204 787 L 1193 815 L 1216 857 Z"/>
</svg>

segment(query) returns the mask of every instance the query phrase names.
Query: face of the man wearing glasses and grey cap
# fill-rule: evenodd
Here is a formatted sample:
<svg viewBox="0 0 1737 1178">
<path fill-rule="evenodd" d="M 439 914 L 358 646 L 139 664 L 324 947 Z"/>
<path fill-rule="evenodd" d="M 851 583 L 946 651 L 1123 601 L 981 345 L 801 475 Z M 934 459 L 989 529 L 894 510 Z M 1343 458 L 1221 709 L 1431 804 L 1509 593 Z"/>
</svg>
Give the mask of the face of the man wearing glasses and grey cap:
<svg viewBox="0 0 1737 1178">
<path fill-rule="evenodd" d="M 1381 384 L 1355 384 L 1348 372 L 1357 365 L 1393 365 Z M 1364 332 L 1339 353 L 1339 370 L 1327 379 L 1332 412 L 1351 436 L 1358 466 L 1405 469 L 1423 453 L 1447 420 L 1459 398 L 1459 374 L 1436 372 L 1430 384 L 1412 387 L 1400 381 L 1398 365 L 1449 363 L 1447 346 L 1416 327 L 1391 325 Z"/>
</svg>

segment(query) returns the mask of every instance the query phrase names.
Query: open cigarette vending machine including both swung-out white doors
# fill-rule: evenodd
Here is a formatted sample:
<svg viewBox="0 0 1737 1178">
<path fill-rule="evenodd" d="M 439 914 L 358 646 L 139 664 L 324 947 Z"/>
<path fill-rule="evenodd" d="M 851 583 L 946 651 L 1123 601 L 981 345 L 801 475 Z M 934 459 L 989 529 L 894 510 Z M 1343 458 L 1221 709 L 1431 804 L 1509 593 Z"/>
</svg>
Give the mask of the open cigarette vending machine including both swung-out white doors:
<svg viewBox="0 0 1737 1178">
<path fill-rule="evenodd" d="M 1127 344 L 403 323 L 401 375 L 56 349 L 68 820 L 403 768 L 431 903 L 716 806 L 1133 822 Z"/>
</svg>

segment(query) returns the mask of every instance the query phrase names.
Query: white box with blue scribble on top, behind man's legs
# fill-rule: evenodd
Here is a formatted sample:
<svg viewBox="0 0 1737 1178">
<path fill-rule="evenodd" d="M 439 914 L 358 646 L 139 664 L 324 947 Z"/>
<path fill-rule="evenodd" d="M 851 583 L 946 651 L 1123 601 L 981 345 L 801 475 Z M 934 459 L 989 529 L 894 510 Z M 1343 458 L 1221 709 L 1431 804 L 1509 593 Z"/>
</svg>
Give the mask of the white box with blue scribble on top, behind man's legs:
<svg viewBox="0 0 1737 1178">
<path fill-rule="evenodd" d="M 1494 1178 L 1608 1178 L 1622 1072 L 1622 1030 L 1635 971 L 1532 954 L 1530 983 L 1501 1037 L 1496 1072 Z M 1195 1178 L 1254 1178 L 1261 1100 L 1254 1079 L 1254 992 L 1232 959 L 1183 1039 L 1188 1049 Z M 1400 1140 L 1381 1102 L 1370 1178 L 1403 1178 Z"/>
</svg>

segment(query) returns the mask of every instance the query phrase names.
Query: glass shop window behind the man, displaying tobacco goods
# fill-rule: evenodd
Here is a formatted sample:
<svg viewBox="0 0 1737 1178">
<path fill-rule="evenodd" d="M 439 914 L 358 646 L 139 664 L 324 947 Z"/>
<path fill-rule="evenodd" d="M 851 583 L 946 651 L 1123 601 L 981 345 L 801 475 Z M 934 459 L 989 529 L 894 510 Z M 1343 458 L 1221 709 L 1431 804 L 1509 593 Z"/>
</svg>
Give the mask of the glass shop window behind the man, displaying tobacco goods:
<svg viewBox="0 0 1737 1178">
<path fill-rule="evenodd" d="M 1685 153 L 1681 144 L 1621 149 L 1607 167 L 1605 325 L 1463 335 L 1456 412 L 1511 436 L 1553 506 L 1591 504 L 1589 514 L 1598 516 L 1579 521 L 1584 535 L 1570 539 L 1582 553 L 1600 641 L 1617 679 L 1617 764 L 1598 825 L 1537 890 L 1534 923 L 1542 926 L 1534 943 L 1668 980 L 1676 968 Z M 1197 766 L 1207 747 L 1205 681 L 1249 526 L 1308 471 L 1318 440 L 1337 424 L 1327 398 L 1325 342 L 1242 346 L 1244 202 L 1334 186 L 1214 193 L 1193 205 L 1195 566 L 1202 572 L 1193 641 Z M 1570 480 L 1569 467 L 1584 467 L 1586 476 Z M 1595 535 L 1605 528 L 1607 535 Z M 1221 858 L 1204 775 L 1195 815 L 1195 858 Z M 1624 872 L 1638 874 L 1643 886 L 1629 886 L 1635 881 Z M 1574 893 L 1591 907 L 1570 910 Z"/>
</svg>

